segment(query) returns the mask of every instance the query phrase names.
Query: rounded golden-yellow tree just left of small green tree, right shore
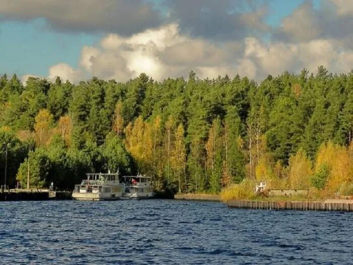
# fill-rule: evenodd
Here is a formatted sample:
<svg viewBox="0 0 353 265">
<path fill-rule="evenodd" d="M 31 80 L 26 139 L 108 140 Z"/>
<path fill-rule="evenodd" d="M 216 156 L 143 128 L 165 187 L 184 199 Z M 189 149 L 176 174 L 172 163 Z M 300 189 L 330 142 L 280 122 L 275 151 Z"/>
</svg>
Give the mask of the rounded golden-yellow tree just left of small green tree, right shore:
<svg viewBox="0 0 353 265">
<path fill-rule="evenodd" d="M 288 184 L 291 189 L 308 189 L 311 185 L 312 172 L 311 162 L 300 148 L 295 155 L 289 157 Z"/>
</svg>

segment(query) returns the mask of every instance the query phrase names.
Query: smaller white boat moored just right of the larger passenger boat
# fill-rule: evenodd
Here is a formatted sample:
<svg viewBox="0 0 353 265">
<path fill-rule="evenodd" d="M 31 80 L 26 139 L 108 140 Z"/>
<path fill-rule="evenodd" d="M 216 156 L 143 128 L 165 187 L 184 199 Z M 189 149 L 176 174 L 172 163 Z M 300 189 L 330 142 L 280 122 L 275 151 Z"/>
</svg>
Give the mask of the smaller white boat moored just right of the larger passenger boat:
<svg viewBox="0 0 353 265">
<path fill-rule="evenodd" d="M 123 199 L 148 199 L 154 197 L 150 178 L 146 176 L 124 176 L 125 191 Z"/>
</svg>

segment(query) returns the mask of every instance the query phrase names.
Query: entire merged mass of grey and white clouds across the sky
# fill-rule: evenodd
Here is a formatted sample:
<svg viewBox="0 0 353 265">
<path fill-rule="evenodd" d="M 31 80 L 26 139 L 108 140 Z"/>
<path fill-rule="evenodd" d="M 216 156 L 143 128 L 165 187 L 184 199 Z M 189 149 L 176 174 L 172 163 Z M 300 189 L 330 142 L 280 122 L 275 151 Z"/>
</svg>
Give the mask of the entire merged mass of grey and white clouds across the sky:
<svg viewBox="0 0 353 265">
<path fill-rule="evenodd" d="M 78 69 L 64 63 L 52 66 L 51 80 L 60 76 L 77 82 L 94 75 L 126 81 L 142 72 L 161 80 L 187 77 L 191 70 L 201 78 L 239 73 L 261 80 L 284 70 L 315 72 L 319 65 L 349 72 L 353 65 L 353 5 L 342 0 L 325 1 L 319 8 L 305 1 L 271 29 L 264 23 L 266 6 L 252 1 L 19 3 L 6 1 L 0 16 L 44 17 L 58 29 L 106 32 L 99 43 L 82 48 Z M 153 8 L 156 3 L 159 11 Z"/>
</svg>

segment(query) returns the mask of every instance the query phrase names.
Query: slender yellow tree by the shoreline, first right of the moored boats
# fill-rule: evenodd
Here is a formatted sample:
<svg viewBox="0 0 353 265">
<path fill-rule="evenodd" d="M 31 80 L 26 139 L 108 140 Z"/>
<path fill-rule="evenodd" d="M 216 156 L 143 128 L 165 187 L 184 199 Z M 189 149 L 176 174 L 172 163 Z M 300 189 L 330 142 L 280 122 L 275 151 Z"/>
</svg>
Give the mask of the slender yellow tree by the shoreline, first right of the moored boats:
<svg viewBox="0 0 353 265">
<path fill-rule="evenodd" d="M 177 177 L 178 177 L 178 186 L 179 186 L 179 192 L 182 192 L 182 184 L 181 184 L 181 176 L 183 170 L 185 171 L 185 159 L 186 159 L 186 150 L 185 150 L 185 140 L 184 140 L 184 127 L 182 124 L 180 124 L 177 128 L 177 131 L 175 131 L 174 134 L 174 147 L 171 151 L 171 166 L 176 172 Z M 185 178 L 184 174 L 184 178 Z M 185 178 L 185 185 L 186 183 L 186 178 Z"/>
</svg>

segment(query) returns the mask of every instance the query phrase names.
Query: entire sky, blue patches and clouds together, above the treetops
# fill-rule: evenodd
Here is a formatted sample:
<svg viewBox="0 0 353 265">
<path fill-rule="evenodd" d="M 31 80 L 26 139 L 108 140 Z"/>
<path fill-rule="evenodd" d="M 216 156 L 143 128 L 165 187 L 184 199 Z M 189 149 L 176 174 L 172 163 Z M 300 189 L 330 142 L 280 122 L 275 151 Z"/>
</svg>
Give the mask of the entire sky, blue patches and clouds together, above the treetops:
<svg viewBox="0 0 353 265">
<path fill-rule="evenodd" d="M 138 71 L 165 78 L 196 69 L 201 76 L 238 71 L 262 78 L 267 72 L 277 74 L 281 67 L 295 72 L 323 64 L 333 71 L 346 71 L 350 64 L 350 2 L 344 6 L 337 0 L 93 0 L 91 6 L 84 0 L 6 3 L 0 5 L 0 74 L 126 79 Z M 156 8 L 157 4 L 162 6 Z M 229 15 L 231 8 L 236 11 Z M 163 34 L 171 34 L 175 41 L 165 36 L 162 41 L 167 43 L 158 44 L 155 39 Z M 117 41 L 120 38 L 124 45 Z M 151 38 L 148 43 L 146 38 Z M 109 41 L 115 41 L 116 47 L 102 44 Z M 175 56 L 180 47 L 195 48 L 197 54 L 192 62 L 185 58 L 183 67 L 181 57 Z M 334 58 L 305 54 L 318 47 Z M 275 49 L 289 52 L 291 61 L 283 58 L 286 64 L 276 65 Z M 313 62 L 305 59 L 311 55 Z M 334 63 L 342 58 L 348 59 L 341 66 Z M 145 66 L 139 67 L 137 60 Z M 53 66 L 57 67 L 50 71 Z"/>
</svg>

